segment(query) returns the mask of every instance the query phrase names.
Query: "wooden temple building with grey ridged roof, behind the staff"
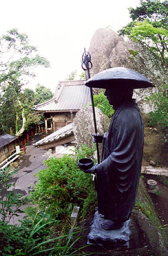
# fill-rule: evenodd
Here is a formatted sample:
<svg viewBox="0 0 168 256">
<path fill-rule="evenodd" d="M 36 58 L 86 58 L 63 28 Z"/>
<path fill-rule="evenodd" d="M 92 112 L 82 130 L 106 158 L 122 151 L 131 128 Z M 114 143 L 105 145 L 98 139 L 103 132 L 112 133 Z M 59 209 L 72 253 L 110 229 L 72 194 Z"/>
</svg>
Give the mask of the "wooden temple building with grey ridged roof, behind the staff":
<svg viewBox="0 0 168 256">
<path fill-rule="evenodd" d="M 38 114 L 44 115 L 45 130 L 56 132 L 73 122 L 76 113 L 90 102 L 90 88 L 84 80 L 61 81 L 52 99 L 35 105 Z"/>
</svg>

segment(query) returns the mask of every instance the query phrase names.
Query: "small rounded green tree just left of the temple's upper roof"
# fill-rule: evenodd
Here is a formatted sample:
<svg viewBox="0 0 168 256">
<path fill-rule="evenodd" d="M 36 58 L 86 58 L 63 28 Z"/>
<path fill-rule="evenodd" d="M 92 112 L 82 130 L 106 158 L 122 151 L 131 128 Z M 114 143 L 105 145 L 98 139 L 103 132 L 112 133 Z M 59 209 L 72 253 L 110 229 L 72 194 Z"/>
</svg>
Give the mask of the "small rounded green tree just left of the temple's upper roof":
<svg viewBox="0 0 168 256">
<path fill-rule="evenodd" d="M 40 104 L 47 100 L 50 100 L 53 97 L 53 93 L 49 88 L 46 88 L 43 85 L 37 84 L 35 89 L 35 104 Z"/>
</svg>

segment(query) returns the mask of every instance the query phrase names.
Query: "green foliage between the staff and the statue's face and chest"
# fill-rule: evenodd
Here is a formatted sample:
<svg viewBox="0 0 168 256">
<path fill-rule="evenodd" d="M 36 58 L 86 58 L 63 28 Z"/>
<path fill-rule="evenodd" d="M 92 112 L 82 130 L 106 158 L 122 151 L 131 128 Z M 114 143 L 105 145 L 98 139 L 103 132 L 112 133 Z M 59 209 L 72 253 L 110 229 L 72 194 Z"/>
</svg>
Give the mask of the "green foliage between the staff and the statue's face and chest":
<svg viewBox="0 0 168 256">
<path fill-rule="evenodd" d="M 106 96 L 104 95 L 104 91 L 100 92 L 100 94 L 94 94 L 94 105 L 99 108 L 106 116 L 109 118 L 112 117 L 114 110 L 112 106 L 108 103 Z"/>
</svg>

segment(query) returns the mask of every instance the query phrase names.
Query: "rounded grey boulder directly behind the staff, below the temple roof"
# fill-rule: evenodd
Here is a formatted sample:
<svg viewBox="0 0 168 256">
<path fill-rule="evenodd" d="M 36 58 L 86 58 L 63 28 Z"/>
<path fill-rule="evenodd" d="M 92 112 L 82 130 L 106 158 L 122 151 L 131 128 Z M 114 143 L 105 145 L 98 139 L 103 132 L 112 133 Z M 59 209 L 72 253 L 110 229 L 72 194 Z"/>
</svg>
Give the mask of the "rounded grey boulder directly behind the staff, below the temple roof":
<svg viewBox="0 0 168 256">
<path fill-rule="evenodd" d="M 108 130 L 110 119 L 102 113 L 98 108 L 95 108 L 97 130 L 100 134 L 104 134 Z M 87 144 L 90 148 L 93 146 L 94 122 L 92 107 L 82 108 L 74 118 L 74 136 L 78 147 Z M 101 144 L 101 143 L 100 143 Z M 101 149 L 100 149 L 101 152 Z"/>
</svg>

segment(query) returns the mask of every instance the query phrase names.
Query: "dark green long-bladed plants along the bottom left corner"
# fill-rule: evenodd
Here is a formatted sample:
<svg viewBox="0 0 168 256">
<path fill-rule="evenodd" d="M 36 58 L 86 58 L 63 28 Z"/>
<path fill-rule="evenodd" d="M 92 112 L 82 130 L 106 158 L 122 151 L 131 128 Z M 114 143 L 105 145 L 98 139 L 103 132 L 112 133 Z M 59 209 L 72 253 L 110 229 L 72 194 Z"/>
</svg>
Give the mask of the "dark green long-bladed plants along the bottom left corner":
<svg viewBox="0 0 168 256">
<path fill-rule="evenodd" d="M 43 215 L 43 216 L 42 216 Z M 54 223 L 36 214 L 34 219 L 24 218 L 21 226 L 9 225 L 0 222 L 0 253 L 2 256 L 33 256 L 33 255 L 90 255 L 84 254 L 82 246 L 75 248 L 75 244 L 82 236 L 78 236 L 81 230 L 62 236 L 53 237 L 50 226 Z M 77 238 L 75 237 L 77 235 Z M 75 238 L 74 238 L 75 237 Z M 68 238 L 65 240 L 65 238 Z M 62 243 L 62 240 L 65 243 Z M 49 254 L 46 254 L 49 252 Z"/>
</svg>

